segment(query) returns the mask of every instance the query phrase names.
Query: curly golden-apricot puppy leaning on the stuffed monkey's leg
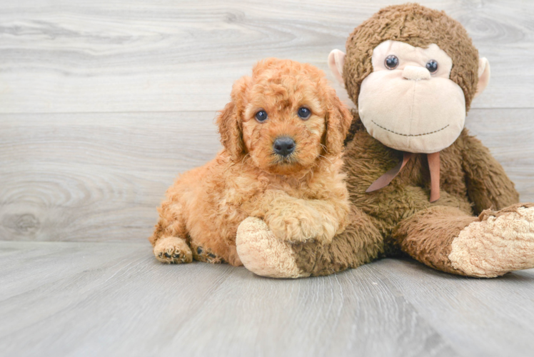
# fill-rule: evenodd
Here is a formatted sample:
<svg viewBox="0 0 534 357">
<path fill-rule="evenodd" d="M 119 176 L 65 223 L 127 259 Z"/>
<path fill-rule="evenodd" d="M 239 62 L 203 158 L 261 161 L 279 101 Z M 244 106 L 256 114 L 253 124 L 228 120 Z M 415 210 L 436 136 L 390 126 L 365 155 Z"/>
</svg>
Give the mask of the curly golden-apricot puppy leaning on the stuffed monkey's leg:
<svg viewBox="0 0 534 357">
<path fill-rule="evenodd" d="M 348 219 L 340 169 L 351 121 L 323 71 L 258 62 L 217 118 L 224 149 L 168 188 L 149 238 L 156 258 L 239 266 L 236 231 L 248 216 L 286 241 L 331 241 Z"/>
</svg>

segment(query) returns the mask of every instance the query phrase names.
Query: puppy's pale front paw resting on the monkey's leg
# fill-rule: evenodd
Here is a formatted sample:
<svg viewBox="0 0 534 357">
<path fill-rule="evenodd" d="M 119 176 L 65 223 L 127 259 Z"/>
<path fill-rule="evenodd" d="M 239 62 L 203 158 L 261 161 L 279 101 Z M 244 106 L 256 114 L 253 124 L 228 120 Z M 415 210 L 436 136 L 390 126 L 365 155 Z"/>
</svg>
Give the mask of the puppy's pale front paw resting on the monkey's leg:
<svg viewBox="0 0 534 357">
<path fill-rule="evenodd" d="M 265 221 L 276 237 L 293 243 L 311 240 L 329 243 L 338 230 L 337 224 L 329 222 L 315 208 L 304 205 L 270 212 Z"/>
</svg>

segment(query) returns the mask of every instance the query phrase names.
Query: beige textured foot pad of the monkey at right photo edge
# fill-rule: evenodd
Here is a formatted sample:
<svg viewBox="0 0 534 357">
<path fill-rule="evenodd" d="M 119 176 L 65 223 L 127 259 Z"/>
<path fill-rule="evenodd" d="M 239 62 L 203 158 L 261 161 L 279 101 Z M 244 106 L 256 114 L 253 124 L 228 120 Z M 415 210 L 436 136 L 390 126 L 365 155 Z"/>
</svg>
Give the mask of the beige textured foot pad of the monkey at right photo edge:
<svg viewBox="0 0 534 357">
<path fill-rule="evenodd" d="M 448 256 L 468 276 L 493 278 L 534 268 L 534 207 L 503 210 L 463 228 Z"/>
</svg>

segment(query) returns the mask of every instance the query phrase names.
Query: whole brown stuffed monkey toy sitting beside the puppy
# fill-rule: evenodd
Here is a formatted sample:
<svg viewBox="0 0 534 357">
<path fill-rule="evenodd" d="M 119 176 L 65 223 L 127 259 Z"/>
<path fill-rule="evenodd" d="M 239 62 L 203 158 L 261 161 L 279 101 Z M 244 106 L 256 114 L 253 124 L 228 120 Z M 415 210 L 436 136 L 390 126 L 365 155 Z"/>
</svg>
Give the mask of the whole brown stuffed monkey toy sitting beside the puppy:
<svg viewBox="0 0 534 357">
<path fill-rule="evenodd" d="M 402 253 L 462 276 L 534 268 L 534 205 L 518 203 L 503 168 L 463 128 L 490 66 L 458 21 L 389 6 L 328 64 L 357 107 L 344 154 L 351 223 L 323 245 L 282 241 L 246 218 L 236 240 L 246 268 L 321 276 Z"/>
</svg>

